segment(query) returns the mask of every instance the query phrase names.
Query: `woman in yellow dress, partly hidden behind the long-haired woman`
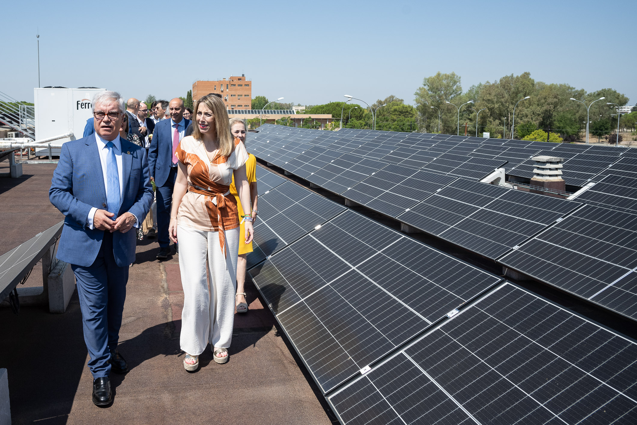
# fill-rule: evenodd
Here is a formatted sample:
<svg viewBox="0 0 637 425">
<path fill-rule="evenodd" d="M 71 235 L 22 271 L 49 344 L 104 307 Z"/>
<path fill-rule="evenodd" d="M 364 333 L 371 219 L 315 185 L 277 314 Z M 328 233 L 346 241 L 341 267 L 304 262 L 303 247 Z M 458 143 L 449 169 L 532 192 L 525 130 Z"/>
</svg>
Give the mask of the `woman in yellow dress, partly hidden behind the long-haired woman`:
<svg viewBox="0 0 637 425">
<path fill-rule="evenodd" d="M 245 128 L 245 123 L 238 118 L 233 118 L 229 122 L 230 131 L 233 134 L 233 138 L 238 138 L 245 145 L 245 136 L 247 134 L 247 129 Z M 248 178 L 248 183 L 250 184 L 250 201 L 252 201 L 252 225 L 254 226 L 254 222 L 257 219 L 257 176 L 256 176 L 256 168 L 257 168 L 257 159 L 254 155 L 248 154 L 248 161 L 245 163 L 245 172 Z M 252 242 L 245 243 L 245 239 L 243 238 L 243 234 L 245 233 L 245 229 L 243 228 L 243 208 L 241 206 L 241 200 L 239 199 L 239 195 L 237 193 L 236 187 L 234 187 L 234 177 L 233 183 L 230 185 L 230 193 L 234 195 L 234 198 L 237 199 L 237 206 L 239 210 L 239 219 L 241 223 L 241 230 L 239 232 L 241 240 L 239 241 L 239 257 L 237 257 L 237 293 L 235 297 L 235 304 L 237 313 L 247 313 L 248 312 L 248 303 L 245 299 L 245 273 L 247 266 L 247 255 L 249 252 L 252 252 Z M 248 208 L 248 211 L 250 209 Z"/>
</svg>

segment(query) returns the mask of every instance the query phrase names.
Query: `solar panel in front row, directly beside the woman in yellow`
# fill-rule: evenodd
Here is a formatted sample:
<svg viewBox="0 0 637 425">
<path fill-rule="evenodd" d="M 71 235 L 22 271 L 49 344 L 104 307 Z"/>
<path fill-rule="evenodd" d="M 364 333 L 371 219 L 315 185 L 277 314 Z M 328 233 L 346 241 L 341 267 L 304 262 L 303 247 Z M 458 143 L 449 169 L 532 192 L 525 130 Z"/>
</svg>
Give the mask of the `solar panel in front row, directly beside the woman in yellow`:
<svg viewBox="0 0 637 425">
<path fill-rule="evenodd" d="M 259 196 L 258 208 L 248 268 L 345 210 L 289 180 Z"/>
</svg>

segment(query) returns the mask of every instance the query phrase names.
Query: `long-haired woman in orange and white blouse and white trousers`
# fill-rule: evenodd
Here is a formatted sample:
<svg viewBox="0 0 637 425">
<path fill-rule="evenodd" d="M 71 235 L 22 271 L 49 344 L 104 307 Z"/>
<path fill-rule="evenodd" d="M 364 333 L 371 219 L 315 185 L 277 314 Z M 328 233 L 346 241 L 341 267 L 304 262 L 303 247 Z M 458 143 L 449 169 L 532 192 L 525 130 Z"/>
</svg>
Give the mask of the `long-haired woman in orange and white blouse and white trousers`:
<svg viewBox="0 0 637 425">
<path fill-rule="evenodd" d="M 179 241 L 184 297 L 180 345 L 186 352 L 183 367 L 190 371 L 199 367 L 199 354 L 208 343 L 215 362 L 228 361 L 240 239 L 237 203 L 229 190 L 233 175 L 241 204 L 250 205 L 248 153 L 231 136 L 223 101 L 202 97 L 193 121 L 192 136 L 183 138 L 175 152 L 179 169 L 168 231 L 171 240 Z M 252 213 L 245 213 L 245 243 L 250 243 Z"/>
</svg>

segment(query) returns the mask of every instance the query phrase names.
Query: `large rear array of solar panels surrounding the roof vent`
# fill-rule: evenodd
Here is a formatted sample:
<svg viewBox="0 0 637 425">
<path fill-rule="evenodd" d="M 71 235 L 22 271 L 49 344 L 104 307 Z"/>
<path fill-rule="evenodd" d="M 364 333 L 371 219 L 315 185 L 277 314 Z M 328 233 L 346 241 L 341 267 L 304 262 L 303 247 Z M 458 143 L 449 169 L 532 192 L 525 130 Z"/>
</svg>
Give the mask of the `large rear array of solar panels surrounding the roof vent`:
<svg viewBox="0 0 637 425">
<path fill-rule="evenodd" d="M 354 129 L 326 132 L 269 124 L 260 128 L 248 140 L 248 148 L 288 173 L 637 320 L 637 264 L 619 257 L 635 258 L 637 251 L 630 227 L 637 218 L 637 154 L 632 149 Z M 547 153 L 542 150 L 547 145 L 554 155 L 571 155 L 568 163 L 573 167 L 581 163 L 571 162 L 578 157 L 615 162 L 601 172 L 590 167 L 590 175 L 598 174 L 573 200 L 476 181 L 506 161 L 524 168 L 522 157 Z M 470 156 L 487 155 L 487 150 L 490 158 Z M 565 176 L 569 164 L 564 166 Z M 596 208 L 595 217 L 583 219 L 582 212 L 576 212 L 585 204 L 613 210 Z M 606 223 L 615 211 L 624 216 Z M 579 226 L 560 231 L 571 222 Z M 599 231 L 603 223 L 604 231 L 619 235 L 612 246 Z M 585 240 L 587 245 L 572 240 Z M 606 250 L 620 254 L 606 255 Z M 610 270 L 625 273 L 616 276 Z M 592 287 L 596 289 L 590 292 Z"/>
</svg>

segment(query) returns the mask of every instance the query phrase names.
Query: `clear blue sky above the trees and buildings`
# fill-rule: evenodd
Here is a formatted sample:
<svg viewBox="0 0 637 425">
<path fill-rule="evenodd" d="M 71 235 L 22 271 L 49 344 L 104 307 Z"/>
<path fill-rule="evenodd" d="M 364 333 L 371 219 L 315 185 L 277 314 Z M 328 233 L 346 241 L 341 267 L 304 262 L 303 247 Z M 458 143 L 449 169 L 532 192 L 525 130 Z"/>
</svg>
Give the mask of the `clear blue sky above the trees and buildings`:
<svg viewBox="0 0 637 425">
<path fill-rule="evenodd" d="M 236 6 L 235 6 L 236 5 Z M 253 96 L 319 104 L 390 94 L 413 104 L 425 76 L 462 88 L 535 80 L 637 101 L 637 1 L 13 1 L 0 90 L 95 86 L 125 97 L 185 96 L 194 80 L 245 73 Z M 19 24 L 18 24 L 19 22 Z M 263 35 L 259 35 L 263 34 Z M 618 40 L 619 39 L 619 40 Z M 6 63 L 5 62 L 5 63 Z"/>
</svg>

